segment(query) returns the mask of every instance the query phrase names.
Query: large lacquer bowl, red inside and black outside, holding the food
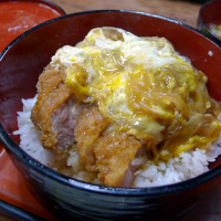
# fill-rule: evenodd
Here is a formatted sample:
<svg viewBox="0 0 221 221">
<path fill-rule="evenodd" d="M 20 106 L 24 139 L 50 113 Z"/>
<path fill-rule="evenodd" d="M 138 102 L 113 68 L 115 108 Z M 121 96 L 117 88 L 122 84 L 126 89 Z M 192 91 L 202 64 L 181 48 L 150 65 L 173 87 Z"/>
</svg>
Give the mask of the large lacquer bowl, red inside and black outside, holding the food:
<svg viewBox="0 0 221 221">
<path fill-rule="evenodd" d="M 17 112 L 21 98 L 36 93 L 38 76 L 55 51 L 75 45 L 97 27 L 115 27 L 139 36 L 165 36 L 209 77 L 210 95 L 221 101 L 221 49 L 197 30 L 162 17 L 131 11 L 90 11 L 45 22 L 19 36 L 0 57 L 0 139 L 33 196 L 62 220 L 172 220 L 191 209 L 221 179 L 221 159 L 211 170 L 164 187 L 126 189 L 95 186 L 53 171 L 23 152 Z M 73 218 L 74 217 L 74 218 Z"/>
</svg>

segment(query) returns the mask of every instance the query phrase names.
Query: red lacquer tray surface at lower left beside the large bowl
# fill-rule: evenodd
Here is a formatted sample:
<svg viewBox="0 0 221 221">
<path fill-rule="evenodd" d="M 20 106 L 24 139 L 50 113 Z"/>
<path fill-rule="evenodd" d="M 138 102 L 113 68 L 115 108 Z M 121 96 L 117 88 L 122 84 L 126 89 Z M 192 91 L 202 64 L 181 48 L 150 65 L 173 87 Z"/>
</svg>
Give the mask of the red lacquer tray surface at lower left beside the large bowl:
<svg viewBox="0 0 221 221">
<path fill-rule="evenodd" d="M 30 193 L 20 171 L 14 167 L 3 146 L 0 144 L 0 200 L 13 204 L 49 221 L 57 221 Z"/>
</svg>

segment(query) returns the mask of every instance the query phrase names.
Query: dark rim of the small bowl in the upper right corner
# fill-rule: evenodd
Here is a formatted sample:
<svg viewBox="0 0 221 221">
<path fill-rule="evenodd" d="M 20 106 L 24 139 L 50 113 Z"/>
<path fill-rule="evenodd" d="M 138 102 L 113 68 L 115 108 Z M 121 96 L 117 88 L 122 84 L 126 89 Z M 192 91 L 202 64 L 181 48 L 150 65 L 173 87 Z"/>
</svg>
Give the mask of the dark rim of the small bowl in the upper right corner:
<svg viewBox="0 0 221 221">
<path fill-rule="evenodd" d="M 208 36 L 221 48 L 221 38 L 219 38 L 213 31 L 210 30 L 210 28 L 208 27 L 208 24 L 204 23 L 204 20 L 202 18 L 202 11 L 206 10 L 206 8 L 209 4 L 215 3 L 218 1 L 220 0 L 210 0 L 200 7 L 199 15 L 198 15 L 198 27 L 199 27 L 199 30 L 206 29 L 206 31 L 210 34 Z"/>
</svg>

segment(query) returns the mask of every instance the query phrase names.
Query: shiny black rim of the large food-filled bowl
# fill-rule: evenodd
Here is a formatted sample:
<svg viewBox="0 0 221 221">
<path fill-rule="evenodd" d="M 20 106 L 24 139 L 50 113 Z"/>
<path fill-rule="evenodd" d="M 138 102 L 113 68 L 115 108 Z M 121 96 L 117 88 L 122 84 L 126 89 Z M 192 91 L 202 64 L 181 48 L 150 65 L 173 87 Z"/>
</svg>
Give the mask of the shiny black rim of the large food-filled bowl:
<svg viewBox="0 0 221 221">
<path fill-rule="evenodd" d="M 136 14 L 144 14 L 151 18 L 162 19 L 169 22 L 173 22 L 176 24 L 182 25 L 187 29 L 190 29 L 191 31 L 197 32 L 198 34 L 202 35 L 203 38 L 211 41 L 213 44 L 219 46 L 215 42 L 212 41 L 208 35 L 201 33 L 199 30 L 182 23 L 180 21 L 176 21 L 166 17 L 147 13 L 147 12 L 140 12 L 140 11 L 131 11 L 131 10 L 91 10 L 91 11 L 83 11 L 83 12 L 76 12 L 71 14 L 65 14 L 62 17 L 57 17 L 55 19 L 45 21 L 41 24 L 38 24 L 36 27 L 33 27 L 32 29 L 25 31 L 21 35 L 19 35 L 15 40 L 13 40 L 0 54 L 0 62 L 3 59 L 3 56 L 7 54 L 7 52 L 10 50 L 11 46 L 13 46 L 20 39 L 24 38 L 29 33 L 33 32 L 34 30 L 46 25 L 48 23 L 55 22 L 57 20 L 62 20 L 69 17 L 77 17 L 82 14 L 87 13 L 108 13 L 108 12 L 117 12 L 117 13 L 136 13 Z M 171 185 L 165 185 L 165 186 L 157 186 L 157 187 L 147 187 L 147 188 L 120 188 L 120 187 L 107 187 L 102 185 L 94 185 L 88 183 L 85 181 L 77 180 L 75 178 L 67 177 L 65 175 L 62 175 L 60 172 L 54 171 L 53 169 L 50 169 L 49 167 L 40 164 L 38 160 L 33 159 L 31 156 L 29 156 L 24 150 L 22 150 L 19 145 L 17 145 L 13 139 L 9 136 L 7 130 L 3 128 L 2 124 L 0 123 L 0 141 L 4 146 L 6 150 L 10 154 L 13 154 L 13 156 L 22 161 L 23 165 L 30 167 L 31 169 L 38 171 L 39 173 L 49 177 L 50 179 L 55 180 L 56 182 L 62 182 L 65 186 L 69 186 L 71 188 L 76 188 L 85 191 L 93 191 L 96 193 L 104 193 L 104 194 L 112 194 L 112 196 L 155 196 L 155 197 L 161 197 L 161 196 L 168 196 L 168 194 L 176 194 L 178 192 L 185 192 L 189 189 L 196 188 L 197 186 L 200 186 L 204 182 L 210 181 L 211 179 L 217 178 L 221 173 L 221 165 L 217 166 L 215 168 L 212 168 L 211 170 L 199 175 L 194 178 L 171 183 Z M 13 161 L 13 160 L 12 160 Z"/>
</svg>

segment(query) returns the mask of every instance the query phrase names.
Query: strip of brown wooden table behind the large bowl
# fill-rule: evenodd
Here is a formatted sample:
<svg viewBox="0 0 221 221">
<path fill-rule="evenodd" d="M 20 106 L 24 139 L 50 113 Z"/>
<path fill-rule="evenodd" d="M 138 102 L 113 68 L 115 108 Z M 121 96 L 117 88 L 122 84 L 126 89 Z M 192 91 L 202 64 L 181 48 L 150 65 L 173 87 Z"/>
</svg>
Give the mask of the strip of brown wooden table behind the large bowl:
<svg viewBox="0 0 221 221">
<path fill-rule="evenodd" d="M 196 28 L 200 3 L 179 0 L 52 0 L 66 13 L 120 9 L 143 11 L 179 20 Z"/>
</svg>

